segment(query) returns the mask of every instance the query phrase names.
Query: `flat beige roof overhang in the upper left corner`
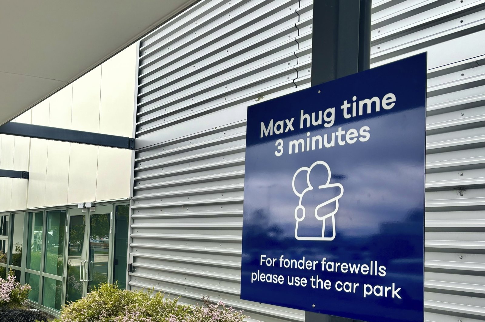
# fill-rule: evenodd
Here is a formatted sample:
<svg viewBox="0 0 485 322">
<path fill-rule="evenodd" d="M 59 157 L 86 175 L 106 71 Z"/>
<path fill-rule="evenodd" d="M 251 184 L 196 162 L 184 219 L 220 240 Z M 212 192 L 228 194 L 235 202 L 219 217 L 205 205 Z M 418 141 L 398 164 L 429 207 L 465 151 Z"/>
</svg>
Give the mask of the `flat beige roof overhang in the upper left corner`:
<svg viewBox="0 0 485 322">
<path fill-rule="evenodd" d="M 195 0 L 0 0 L 0 125 Z"/>
</svg>

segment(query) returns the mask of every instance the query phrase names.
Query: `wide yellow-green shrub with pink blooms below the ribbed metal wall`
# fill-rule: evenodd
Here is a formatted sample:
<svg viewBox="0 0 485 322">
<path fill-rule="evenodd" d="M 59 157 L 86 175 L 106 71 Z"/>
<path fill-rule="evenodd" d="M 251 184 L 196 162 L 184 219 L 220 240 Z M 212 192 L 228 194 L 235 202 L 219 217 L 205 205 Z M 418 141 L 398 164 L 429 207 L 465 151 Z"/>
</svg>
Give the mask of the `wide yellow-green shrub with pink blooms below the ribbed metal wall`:
<svg viewBox="0 0 485 322">
<path fill-rule="evenodd" d="M 58 322 L 242 322 L 242 311 L 224 303 L 203 306 L 178 304 L 162 292 L 120 290 L 101 284 L 61 309 Z"/>
</svg>

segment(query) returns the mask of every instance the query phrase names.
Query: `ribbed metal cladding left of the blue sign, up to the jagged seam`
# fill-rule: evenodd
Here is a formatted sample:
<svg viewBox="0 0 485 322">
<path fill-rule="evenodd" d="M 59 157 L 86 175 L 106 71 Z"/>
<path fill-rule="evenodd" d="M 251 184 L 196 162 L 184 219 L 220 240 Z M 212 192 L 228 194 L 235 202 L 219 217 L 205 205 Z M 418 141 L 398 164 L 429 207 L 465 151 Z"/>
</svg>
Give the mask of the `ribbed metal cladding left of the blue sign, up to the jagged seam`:
<svg viewBox="0 0 485 322">
<path fill-rule="evenodd" d="M 304 320 L 240 299 L 246 108 L 295 90 L 298 5 L 202 0 L 141 40 L 132 288 Z"/>
</svg>

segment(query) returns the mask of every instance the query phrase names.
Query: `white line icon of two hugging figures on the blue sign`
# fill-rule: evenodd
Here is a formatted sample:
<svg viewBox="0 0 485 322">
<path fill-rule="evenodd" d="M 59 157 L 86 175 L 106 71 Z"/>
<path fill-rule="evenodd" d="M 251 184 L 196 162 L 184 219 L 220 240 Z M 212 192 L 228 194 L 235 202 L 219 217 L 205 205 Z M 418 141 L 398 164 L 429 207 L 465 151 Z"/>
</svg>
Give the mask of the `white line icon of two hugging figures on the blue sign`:
<svg viewBox="0 0 485 322">
<path fill-rule="evenodd" d="M 312 172 L 313 171 L 313 172 Z M 306 176 L 306 185 L 300 187 L 301 191 L 295 186 L 295 181 L 297 177 L 300 178 L 300 181 L 305 181 L 304 177 Z M 326 177 L 326 178 L 325 178 Z M 298 206 L 295 209 L 295 238 L 300 241 L 333 241 L 335 239 L 336 230 L 335 230 L 335 213 L 339 210 L 339 198 L 343 195 L 343 186 L 340 183 L 330 183 L 331 171 L 328 164 L 324 161 L 316 161 L 314 162 L 309 168 L 308 167 L 301 167 L 298 169 L 295 174 L 293 175 L 293 180 L 291 182 L 291 186 L 293 188 L 293 192 L 300 198 Z M 325 180 L 326 179 L 326 180 Z M 324 184 L 320 184 L 324 183 Z M 328 194 L 328 192 L 332 193 L 332 197 L 325 198 L 326 200 L 322 200 L 321 204 L 318 204 L 315 207 L 314 213 L 306 213 L 305 202 L 304 199 L 306 196 L 315 197 L 315 193 L 319 194 Z M 334 203 L 332 205 L 332 203 Z M 333 206 L 330 207 L 333 209 L 332 211 L 324 214 L 318 214 L 318 210 L 324 206 Z M 322 236 L 319 237 L 304 237 L 301 236 L 302 234 L 298 234 L 298 224 L 305 219 L 306 215 L 314 215 L 321 223 L 322 223 Z M 325 221 L 326 220 L 332 221 L 332 236 L 325 236 Z M 319 226 L 320 227 L 320 226 Z"/>
</svg>

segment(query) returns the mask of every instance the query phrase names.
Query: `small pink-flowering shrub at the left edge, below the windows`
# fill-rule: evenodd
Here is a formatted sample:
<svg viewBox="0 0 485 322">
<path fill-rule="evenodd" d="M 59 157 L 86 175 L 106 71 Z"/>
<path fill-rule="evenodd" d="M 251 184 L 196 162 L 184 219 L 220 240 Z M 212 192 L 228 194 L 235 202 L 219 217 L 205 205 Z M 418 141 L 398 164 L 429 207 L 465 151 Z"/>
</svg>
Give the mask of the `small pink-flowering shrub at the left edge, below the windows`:
<svg viewBox="0 0 485 322">
<path fill-rule="evenodd" d="M 10 271 L 6 279 L 0 277 L 0 307 L 16 308 L 27 305 L 27 297 L 31 286 L 21 285 L 15 280 L 13 271 Z"/>
</svg>

